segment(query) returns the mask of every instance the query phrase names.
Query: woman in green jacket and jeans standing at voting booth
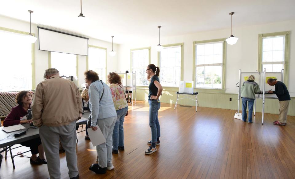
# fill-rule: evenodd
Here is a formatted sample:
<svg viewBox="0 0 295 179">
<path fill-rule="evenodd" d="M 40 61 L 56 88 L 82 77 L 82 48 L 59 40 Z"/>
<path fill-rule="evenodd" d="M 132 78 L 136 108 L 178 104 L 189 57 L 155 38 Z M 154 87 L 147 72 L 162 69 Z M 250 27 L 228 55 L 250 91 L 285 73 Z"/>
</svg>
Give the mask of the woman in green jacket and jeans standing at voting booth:
<svg viewBox="0 0 295 179">
<path fill-rule="evenodd" d="M 254 75 L 250 75 L 246 81 L 242 84 L 241 87 L 241 97 L 242 97 L 242 120 L 246 122 L 247 120 L 247 103 L 248 103 L 248 123 L 252 123 L 252 112 L 253 112 L 253 105 L 255 100 L 255 94 L 259 94 L 260 88 L 258 83 L 255 81 Z"/>
</svg>

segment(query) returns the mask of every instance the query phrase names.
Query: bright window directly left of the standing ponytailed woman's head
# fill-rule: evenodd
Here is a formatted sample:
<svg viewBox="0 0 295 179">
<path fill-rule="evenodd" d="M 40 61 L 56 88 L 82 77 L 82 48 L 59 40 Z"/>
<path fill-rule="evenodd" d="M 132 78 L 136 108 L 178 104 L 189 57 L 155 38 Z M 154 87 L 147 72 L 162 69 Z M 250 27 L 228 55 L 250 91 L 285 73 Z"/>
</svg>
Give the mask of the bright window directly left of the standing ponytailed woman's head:
<svg viewBox="0 0 295 179">
<path fill-rule="evenodd" d="M 147 66 L 150 64 L 151 48 L 131 49 L 131 69 L 136 73 L 136 86 L 148 85 L 146 74 Z"/>
</svg>

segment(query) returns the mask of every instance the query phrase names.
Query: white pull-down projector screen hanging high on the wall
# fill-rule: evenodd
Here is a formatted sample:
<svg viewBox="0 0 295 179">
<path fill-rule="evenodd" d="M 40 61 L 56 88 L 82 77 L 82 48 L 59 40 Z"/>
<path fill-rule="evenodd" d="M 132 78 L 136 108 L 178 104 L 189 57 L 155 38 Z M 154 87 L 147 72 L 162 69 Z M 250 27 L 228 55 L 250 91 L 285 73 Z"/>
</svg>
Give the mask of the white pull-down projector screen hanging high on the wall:
<svg viewBox="0 0 295 179">
<path fill-rule="evenodd" d="M 39 27 L 39 50 L 88 55 L 88 39 Z"/>
</svg>

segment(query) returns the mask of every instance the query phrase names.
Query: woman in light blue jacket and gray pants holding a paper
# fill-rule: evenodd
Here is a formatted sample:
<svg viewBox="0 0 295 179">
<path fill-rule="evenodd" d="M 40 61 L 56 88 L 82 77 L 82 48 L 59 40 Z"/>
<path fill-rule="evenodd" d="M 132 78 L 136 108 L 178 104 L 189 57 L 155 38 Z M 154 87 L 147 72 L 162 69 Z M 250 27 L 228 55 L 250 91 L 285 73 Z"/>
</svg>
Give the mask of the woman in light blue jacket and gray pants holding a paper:
<svg viewBox="0 0 295 179">
<path fill-rule="evenodd" d="M 106 142 L 96 146 L 98 164 L 92 164 L 89 170 L 104 174 L 112 170 L 112 134 L 116 123 L 117 113 L 112 100 L 112 93 L 108 85 L 99 80 L 95 71 L 84 72 L 85 81 L 89 84 L 89 108 L 91 111 L 91 128 L 100 128 Z M 91 136 L 90 136 L 91 137 Z M 91 139 L 91 138 L 90 138 Z"/>
</svg>

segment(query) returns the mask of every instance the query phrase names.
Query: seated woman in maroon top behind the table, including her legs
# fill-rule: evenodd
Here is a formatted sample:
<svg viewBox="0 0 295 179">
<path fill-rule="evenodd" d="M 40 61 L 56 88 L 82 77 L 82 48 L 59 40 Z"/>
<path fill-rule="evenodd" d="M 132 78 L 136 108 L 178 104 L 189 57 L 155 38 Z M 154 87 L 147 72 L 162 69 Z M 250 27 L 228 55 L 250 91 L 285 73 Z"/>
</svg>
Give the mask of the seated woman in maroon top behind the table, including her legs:
<svg viewBox="0 0 295 179">
<path fill-rule="evenodd" d="M 31 108 L 31 103 L 32 103 L 31 93 L 29 93 L 28 91 L 19 92 L 18 95 L 16 96 L 16 102 L 18 103 L 18 106 L 11 109 L 9 115 L 3 121 L 4 127 L 32 122 L 32 120 L 26 119 L 27 111 L 28 109 Z M 47 164 L 40 137 L 25 141 L 25 142 L 21 142 L 20 144 L 23 146 L 29 147 L 31 149 L 31 153 L 32 153 L 32 157 L 30 158 L 31 164 L 37 164 L 37 165 Z M 38 157 L 37 157 L 37 153 L 39 153 Z"/>
</svg>

